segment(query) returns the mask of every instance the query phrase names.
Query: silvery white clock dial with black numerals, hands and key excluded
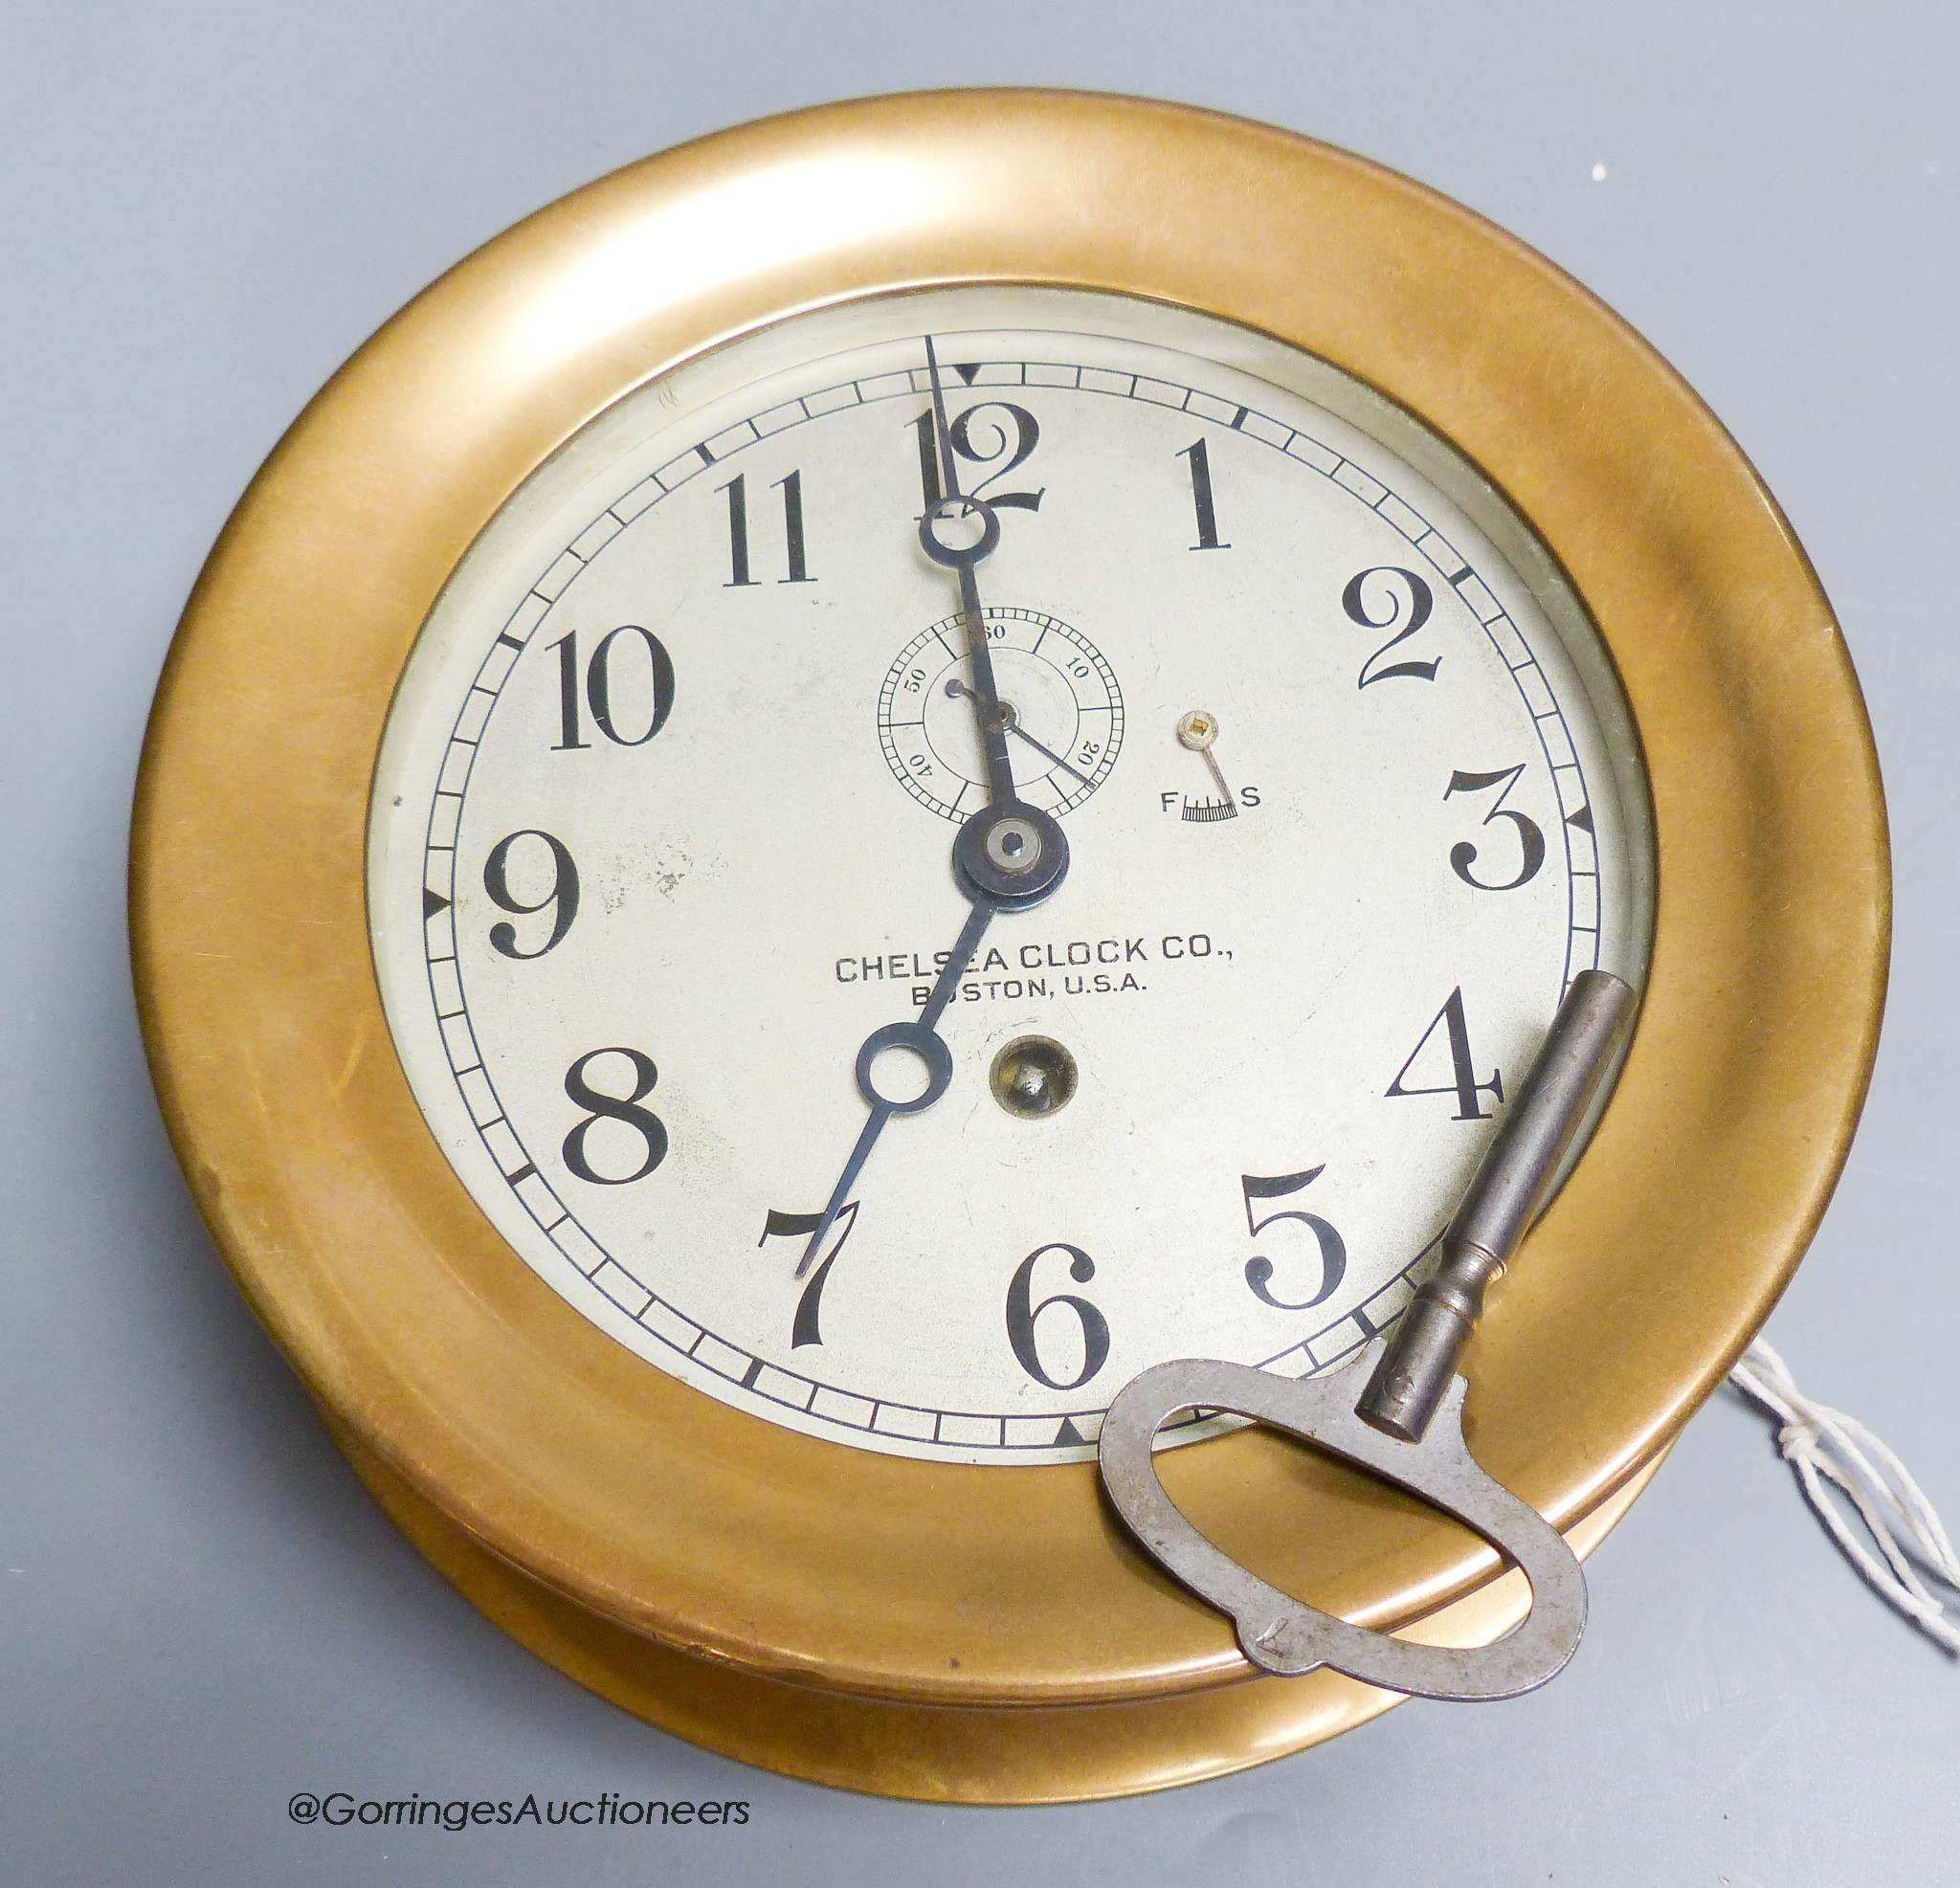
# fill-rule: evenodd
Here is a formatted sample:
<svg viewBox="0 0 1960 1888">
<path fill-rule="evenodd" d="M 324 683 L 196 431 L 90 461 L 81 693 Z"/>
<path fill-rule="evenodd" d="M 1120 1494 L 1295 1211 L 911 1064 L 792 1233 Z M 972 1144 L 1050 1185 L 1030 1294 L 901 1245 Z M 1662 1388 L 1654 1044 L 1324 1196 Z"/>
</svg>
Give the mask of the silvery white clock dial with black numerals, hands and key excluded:
<svg viewBox="0 0 1960 1888">
<path fill-rule="evenodd" d="M 972 912 L 927 337 L 1070 869 L 806 1255 L 858 1051 Z M 1476 472 L 1266 337 L 1037 288 L 780 323 L 541 467 L 417 641 L 368 876 L 402 1065 L 523 1263 L 710 1396 L 966 1463 L 1092 1453 L 1170 1357 L 1390 1325 L 1566 984 L 1639 984 L 1652 921 L 1609 663 Z M 1004 1100 L 1025 1039 L 1066 1106 Z"/>
</svg>

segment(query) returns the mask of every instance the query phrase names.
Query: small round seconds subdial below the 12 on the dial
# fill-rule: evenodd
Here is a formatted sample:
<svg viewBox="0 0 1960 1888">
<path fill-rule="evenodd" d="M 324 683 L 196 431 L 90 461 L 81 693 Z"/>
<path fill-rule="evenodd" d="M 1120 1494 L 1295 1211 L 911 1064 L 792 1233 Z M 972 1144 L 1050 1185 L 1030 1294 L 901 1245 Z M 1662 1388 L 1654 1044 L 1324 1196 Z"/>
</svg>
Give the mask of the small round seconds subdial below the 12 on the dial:
<svg viewBox="0 0 1960 1888">
<path fill-rule="evenodd" d="M 1080 629 L 1039 610 L 984 612 L 1015 792 L 1043 812 L 1080 806 L 1115 767 L 1123 694 Z M 921 806 L 964 820 L 986 804 L 972 663 L 956 616 L 915 635 L 878 690 L 878 741 Z"/>
</svg>

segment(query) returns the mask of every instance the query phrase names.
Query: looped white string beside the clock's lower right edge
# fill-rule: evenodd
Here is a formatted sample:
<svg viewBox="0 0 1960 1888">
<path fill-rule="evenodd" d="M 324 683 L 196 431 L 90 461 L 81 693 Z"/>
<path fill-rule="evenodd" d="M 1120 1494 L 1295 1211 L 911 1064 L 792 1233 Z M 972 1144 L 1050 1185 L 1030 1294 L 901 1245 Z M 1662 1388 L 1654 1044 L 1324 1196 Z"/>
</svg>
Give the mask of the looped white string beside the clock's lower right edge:
<svg viewBox="0 0 1960 1888">
<path fill-rule="evenodd" d="M 1929 1639 L 1960 1657 L 1960 1627 L 1919 1576 L 1923 1566 L 1940 1584 L 1960 1592 L 1960 1559 L 1954 1557 L 1933 1504 L 1905 1472 L 1905 1463 L 1864 1423 L 1842 1410 L 1811 1402 L 1791 1378 L 1789 1365 L 1760 1337 L 1742 1353 L 1729 1380 L 1782 1419 L 1776 1447 L 1795 1468 L 1805 1498 L 1852 1566 Z M 1852 1533 L 1842 1508 L 1825 1494 L 1825 1482 L 1850 1498 L 1886 1557 L 1884 1565 Z"/>
</svg>

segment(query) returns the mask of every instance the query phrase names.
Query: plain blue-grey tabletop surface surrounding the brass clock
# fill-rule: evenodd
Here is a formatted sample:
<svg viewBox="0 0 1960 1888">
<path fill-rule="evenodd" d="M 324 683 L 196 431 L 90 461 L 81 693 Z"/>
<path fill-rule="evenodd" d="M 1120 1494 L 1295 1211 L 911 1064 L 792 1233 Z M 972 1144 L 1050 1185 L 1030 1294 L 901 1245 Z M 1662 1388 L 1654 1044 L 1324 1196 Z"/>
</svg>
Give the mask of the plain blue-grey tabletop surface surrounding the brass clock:
<svg viewBox="0 0 1960 1888">
<path fill-rule="evenodd" d="M 212 1255 L 123 943 L 143 718 L 253 467 L 400 302 L 645 151 L 956 82 L 1152 92 L 1472 204 L 1733 427 L 1844 620 L 1897 949 L 1770 1333 L 1960 1519 L 1950 4 L 14 4 L 0 18 L 0 1876 L 31 1884 L 1952 1880 L 1960 1672 L 1723 1394 L 1546 1692 L 1131 1804 L 947 1812 L 666 1739 L 368 1504 Z M 1603 182 L 1593 165 L 1603 163 Z M 1664 1255 L 1656 1255 L 1664 1263 Z M 743 1829 L 294 1827 L 296 1790 L 747 1798 Z"/>
</svg>

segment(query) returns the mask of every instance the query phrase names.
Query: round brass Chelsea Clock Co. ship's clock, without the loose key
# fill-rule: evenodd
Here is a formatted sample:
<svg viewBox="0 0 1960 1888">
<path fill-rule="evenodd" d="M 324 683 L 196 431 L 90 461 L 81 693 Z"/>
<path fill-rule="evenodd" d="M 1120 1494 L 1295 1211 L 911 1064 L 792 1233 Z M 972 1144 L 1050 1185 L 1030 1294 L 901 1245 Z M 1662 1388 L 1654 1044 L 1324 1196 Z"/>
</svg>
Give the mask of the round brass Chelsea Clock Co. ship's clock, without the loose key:
<svg viewBox="0 0 1960 1888">
<path fill-rule="evenodd" d="M 184 1168 L 396 1521 L 659 1725 L 966 1802 L 1394 1702 L 1254 1676 L 1098 1429 L 1394 1325 L 1592 969 L 1639 1027 L 1470 1435 L 1597 1541 L 1823 1210 L 1886 927 L 1829 606 L 1635 333 L 1360 159 L 1043 92 L 704 139 L 410 304 L 214 551 L 135 835 Z M 1521 1612 L 1164 1439 L 1317 1606 Z"/>
</svg>

